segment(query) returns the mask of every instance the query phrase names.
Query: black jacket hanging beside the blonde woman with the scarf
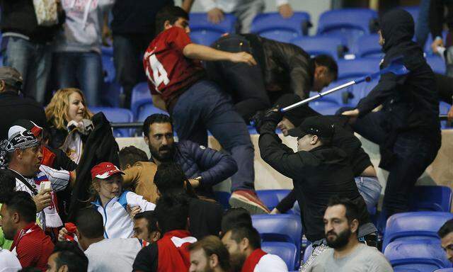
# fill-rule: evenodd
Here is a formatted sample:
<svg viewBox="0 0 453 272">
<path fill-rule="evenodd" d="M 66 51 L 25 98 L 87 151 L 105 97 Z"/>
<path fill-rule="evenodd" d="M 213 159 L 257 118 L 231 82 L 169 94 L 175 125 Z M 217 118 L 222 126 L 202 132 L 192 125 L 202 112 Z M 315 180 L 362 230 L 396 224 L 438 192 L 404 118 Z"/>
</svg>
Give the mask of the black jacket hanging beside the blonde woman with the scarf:
<svg viewBox="0 0 453 272">
<path fill-rule="evenodd" d="M 120 166 L 118 152 L 120 149 L 113 137 L 110 122 L 103 113 L 96 113 L 91 118 L 94 129 L 88 135 L 84 152 L 76 169 L 76 185 L 72 191 L 69 220 L 74 220 L 77 210 L 89 205 L 89 189 L 91 186 L 91 168 L 101 162 L 111 162 Z"/>
</svg>

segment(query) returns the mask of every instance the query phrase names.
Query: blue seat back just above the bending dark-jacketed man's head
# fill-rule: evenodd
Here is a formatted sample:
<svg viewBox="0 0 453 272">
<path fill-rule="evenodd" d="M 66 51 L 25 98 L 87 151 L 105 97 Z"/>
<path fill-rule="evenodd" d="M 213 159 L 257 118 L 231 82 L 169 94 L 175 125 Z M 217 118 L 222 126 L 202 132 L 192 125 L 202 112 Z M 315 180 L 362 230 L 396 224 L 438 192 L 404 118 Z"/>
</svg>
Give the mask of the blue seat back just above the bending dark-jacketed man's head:
<svg viewBox="0 0 453 272">
<path fill-rule="evenodd" d="M 300 37 L 295 38 L 291 41 L 294 45 L 301 47 L 309 55 L 316 56 L 321 54 L 331 55 L 333 58 L 338 60 L 344 44 L 340 38 L 335 37 Z"/>
</svg>

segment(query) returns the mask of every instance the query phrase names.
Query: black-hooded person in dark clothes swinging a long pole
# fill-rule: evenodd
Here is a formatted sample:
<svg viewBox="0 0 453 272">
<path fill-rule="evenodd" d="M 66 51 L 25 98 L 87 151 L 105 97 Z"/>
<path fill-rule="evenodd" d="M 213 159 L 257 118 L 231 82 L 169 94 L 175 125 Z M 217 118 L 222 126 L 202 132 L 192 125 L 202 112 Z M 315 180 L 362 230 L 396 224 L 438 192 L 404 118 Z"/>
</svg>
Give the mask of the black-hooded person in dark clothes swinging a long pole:
<svg viewBox="0 0 453 272">
<path fill-rule="evenodd" d="M 380 167 L 389 171 L 384 194 L 384 217 L 408 211 L 408 197 L 440 148 L 439 101 L 435 76 L 413 42 L 414 22 L 403 9 L 391 10 L 380 20 L 379 41 L 385 53 L 381 68 L 398 57 L 408 74 L 382 74 L 379 84 L 353 111 L 352 125 L 381 150 Z M 382 105 L 382 109 L 372 112 Z M 351 120 L 352 121 L 352 120 Z"/>
</svg>

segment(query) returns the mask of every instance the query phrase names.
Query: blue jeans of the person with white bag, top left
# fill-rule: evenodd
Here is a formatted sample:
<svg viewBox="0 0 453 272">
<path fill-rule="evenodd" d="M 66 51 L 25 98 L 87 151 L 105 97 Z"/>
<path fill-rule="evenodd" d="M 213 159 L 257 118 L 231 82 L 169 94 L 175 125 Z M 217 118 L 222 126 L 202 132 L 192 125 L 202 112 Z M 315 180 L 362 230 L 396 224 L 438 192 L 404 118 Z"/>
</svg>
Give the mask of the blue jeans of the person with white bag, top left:
<svg viewBox="0 0 453 272">
<path fill-rule="evenodd" d="M 4 37 L 1 41 L 4 66 L 14 67 L 22 74 L 24 96 L 44 104 L 47 80 L 52 67 L 50 45 L 23 38 Z"/>
</svg>

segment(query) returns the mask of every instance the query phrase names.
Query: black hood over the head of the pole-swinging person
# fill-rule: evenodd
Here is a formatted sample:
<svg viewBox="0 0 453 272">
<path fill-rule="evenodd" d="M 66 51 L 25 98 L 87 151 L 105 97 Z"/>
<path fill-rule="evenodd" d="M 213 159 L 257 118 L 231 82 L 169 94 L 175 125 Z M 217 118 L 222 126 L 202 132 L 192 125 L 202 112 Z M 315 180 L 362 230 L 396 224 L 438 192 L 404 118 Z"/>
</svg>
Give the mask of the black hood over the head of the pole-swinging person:
<svg viewBox="0 0 453 272">
<path fill-rule="evenodd" d="M 387 52 L 401 43 L 411 42 L 415 24 L 411 13 L 401 8 L 395 8 L 381 17 L 379 28 L 385 40 L 382 49 Z"/>
</svg>

